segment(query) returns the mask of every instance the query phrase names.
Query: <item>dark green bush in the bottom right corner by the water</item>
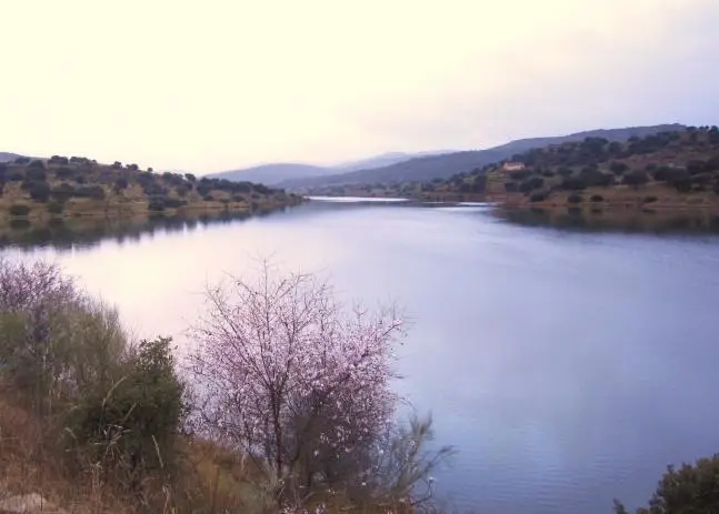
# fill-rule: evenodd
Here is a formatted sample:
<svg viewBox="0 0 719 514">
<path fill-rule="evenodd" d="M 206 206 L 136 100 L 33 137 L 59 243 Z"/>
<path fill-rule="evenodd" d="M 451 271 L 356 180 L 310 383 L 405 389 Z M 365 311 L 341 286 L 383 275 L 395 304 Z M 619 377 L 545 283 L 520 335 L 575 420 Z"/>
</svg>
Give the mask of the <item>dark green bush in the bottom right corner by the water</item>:
<svg viewBox="0 0 719 514">
<path fill-rule="evenodd" d="M 628 514 L 615 501 L 617 514 Z M 667 467 L 648 508 L 637 514 L 709 514 L 719 512 L 719 454 L 700 458 L 695 464 L 682 464 L 679 470 Z"/>
</svg>

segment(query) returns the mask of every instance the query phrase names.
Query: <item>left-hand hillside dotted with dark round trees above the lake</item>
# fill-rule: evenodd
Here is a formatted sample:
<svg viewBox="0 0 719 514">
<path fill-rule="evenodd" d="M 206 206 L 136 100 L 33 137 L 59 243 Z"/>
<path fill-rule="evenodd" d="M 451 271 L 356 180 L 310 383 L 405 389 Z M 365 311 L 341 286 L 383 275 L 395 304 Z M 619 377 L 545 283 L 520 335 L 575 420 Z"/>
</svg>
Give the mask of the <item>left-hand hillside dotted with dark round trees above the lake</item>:
<svg viewBox="0 0 719 514">
<path fill-rule="evenodd" d="M 142 171 L 87 158 L 20 157 L 0 163 L 0 221 L 67 216 L 118 218 L 190 212 L 253 212 L 300 198 L 262 184 Z"/>
</svg>

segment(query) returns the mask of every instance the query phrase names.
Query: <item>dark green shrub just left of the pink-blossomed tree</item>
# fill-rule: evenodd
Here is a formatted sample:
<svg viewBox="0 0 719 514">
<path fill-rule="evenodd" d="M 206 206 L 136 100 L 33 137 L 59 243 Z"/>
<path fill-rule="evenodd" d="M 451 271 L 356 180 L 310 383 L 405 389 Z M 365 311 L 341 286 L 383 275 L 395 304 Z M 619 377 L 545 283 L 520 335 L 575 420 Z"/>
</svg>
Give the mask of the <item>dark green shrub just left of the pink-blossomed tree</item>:
<svg viewBox="0 0 719 514">
<path fill-rule="evenodd" d="M 103 471 L 139 487 L 150 470 L 167 468 L 186 414 L 171 339 L 142 341 L 118 364 L 113 381 L 87 390 L 67 420 L 71 447 Z M 109 456 L 109 457 L 108 457 Z"/>
</svg>

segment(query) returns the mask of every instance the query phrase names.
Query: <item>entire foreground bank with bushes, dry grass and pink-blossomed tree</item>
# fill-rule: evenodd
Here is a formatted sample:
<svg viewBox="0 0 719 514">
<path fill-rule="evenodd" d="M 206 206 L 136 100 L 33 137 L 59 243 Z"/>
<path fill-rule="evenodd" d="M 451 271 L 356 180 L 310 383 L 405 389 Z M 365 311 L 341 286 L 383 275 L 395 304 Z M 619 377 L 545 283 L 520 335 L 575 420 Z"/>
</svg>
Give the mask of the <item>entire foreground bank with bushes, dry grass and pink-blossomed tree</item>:
<svg viewBox="0 0 719 514">
<path fill-rule="evenodd" d="M 176 362 L 44 263 L 0 262 L 0 510 L 412 512 L 429 506 L 430 421 L 398 424 L 393 310 L 347 313 L 309 275 L 208 291 Z"/>
</svg>

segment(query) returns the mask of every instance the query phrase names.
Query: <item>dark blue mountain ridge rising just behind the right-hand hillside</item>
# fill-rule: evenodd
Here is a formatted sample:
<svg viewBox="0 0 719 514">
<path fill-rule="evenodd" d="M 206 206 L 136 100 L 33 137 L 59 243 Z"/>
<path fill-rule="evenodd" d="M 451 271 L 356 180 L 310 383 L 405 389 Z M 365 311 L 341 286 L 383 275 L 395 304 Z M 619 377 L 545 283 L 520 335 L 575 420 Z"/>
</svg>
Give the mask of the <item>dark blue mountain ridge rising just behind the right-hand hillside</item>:
<svg viewBox="0 0 719 514">
<path fill-rule="evenodd" d="M 471 171 L 487 164 L 510 159 L 517 153 L 542 148 L 550 144 L 561 144 L 572 141 L 582 141 L 585 138 L 605 138 L 609 141 L 626 141 L 631 137 L 645 137 L 657 132 L 669 132 L 682 129 L 680 123 L 660 124 L 650 127 L 629 127 L 621 129 L 599 129 L 577 132 L 569 135 L 531 138 L 511 141 L 509 143 L 487 150 L 470 150 L 448 152 L 433 155 L 415 157 L 395 162 L 389 165 L 363 168 L 357 171 L 341 173 L 323 173 L 321 175 L 304 177 L 284 180 L 274 183 L 276 187 L 308 191 L 337 185 L 353 184 L 393 184 L 400 182 L 431 181 L 447 179 L 457 173 Z"/>
</svg>

